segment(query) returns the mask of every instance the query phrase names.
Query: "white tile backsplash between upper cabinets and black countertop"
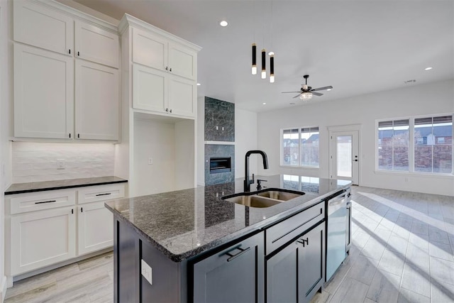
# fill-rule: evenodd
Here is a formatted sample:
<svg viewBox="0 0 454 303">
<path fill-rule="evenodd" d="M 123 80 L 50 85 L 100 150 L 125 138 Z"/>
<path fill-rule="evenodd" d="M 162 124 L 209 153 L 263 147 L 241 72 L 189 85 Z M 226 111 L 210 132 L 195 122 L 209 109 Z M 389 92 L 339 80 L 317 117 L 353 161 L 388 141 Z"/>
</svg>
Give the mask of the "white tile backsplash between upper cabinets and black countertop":
<svg viewBox="0 0 454 303">
<path fill-rule="evenodd" d="M 113 176 L 114 154 L 113 143 L 13 142 L 13 183 Z"/>
</svg>

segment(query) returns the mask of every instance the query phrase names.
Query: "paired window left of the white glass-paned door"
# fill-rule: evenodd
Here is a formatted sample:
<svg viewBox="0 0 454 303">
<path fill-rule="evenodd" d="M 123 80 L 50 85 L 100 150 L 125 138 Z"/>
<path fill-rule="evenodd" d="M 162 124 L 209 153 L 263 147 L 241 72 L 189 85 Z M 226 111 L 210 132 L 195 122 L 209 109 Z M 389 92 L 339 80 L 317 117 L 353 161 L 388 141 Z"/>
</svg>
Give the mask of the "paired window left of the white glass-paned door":
<svg viewBox="0 0 454 303">
<path fill-rule="evenodd" d="M 319 167 L 319 128 L 282 130 L 282 165 Z"/>
</svg>

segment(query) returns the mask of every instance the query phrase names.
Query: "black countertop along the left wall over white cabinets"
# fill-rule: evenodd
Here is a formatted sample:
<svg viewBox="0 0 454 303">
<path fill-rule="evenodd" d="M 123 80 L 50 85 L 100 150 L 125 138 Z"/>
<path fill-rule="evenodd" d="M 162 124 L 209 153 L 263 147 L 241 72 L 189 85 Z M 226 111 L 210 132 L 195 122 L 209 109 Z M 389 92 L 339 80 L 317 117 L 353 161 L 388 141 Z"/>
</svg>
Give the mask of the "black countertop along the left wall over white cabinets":
<svg viewBox="0 0 454 303">
<path fill-rule="evenodd" d="M 65 189 L 73 187 L 84 187 L 93 185 L 104 185 L 128 182 L 115 176 L 79 178 L 43 182 L 14 183 L 6 189 L 5 194 L 23 194 L 26 192 L 43 192 L 45 190 Z"/>
</svg>

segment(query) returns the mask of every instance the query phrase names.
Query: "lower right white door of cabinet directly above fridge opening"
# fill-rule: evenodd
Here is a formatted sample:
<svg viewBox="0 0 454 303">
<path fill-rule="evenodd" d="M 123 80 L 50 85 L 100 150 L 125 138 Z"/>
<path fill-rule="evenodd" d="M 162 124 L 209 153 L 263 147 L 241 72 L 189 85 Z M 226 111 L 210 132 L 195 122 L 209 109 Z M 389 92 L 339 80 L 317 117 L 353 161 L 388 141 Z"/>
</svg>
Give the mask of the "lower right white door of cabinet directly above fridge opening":
<svg viewBox="0 0 454 303">
<path fill-rule="evenodd" d="M 196 84 L 194 81 L 181 77 L 168 76 L 169 83 L 169 109 L 172 114 L 181 116 L 194 116 L 196 104 Z"/>
</svg>

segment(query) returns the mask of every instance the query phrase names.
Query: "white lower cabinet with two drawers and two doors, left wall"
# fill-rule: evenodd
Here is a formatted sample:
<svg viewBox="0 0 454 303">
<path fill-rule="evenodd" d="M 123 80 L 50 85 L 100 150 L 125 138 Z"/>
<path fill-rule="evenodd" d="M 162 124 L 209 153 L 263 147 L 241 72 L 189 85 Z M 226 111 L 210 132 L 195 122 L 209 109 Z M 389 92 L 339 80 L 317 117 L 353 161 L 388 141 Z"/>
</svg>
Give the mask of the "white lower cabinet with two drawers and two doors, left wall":
<svg viewBox="0 0 454 303">
<path fill-rule="evenodd" d="M 6 275 L 13 277 L 114 244 L 114 218 L 104 202 L 124 197 L 124 184 L 5 196 Z"/>
</svg>

